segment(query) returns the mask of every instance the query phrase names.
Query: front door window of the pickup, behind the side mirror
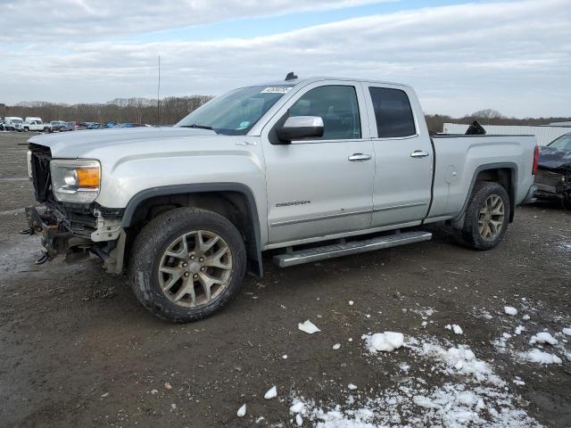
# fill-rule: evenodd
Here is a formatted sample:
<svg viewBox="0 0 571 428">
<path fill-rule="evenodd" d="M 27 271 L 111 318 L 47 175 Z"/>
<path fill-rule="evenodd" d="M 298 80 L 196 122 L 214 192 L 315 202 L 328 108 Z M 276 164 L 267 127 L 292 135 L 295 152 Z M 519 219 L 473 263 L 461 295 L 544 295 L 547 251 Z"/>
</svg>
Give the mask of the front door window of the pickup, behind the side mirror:
<svg viewBox="0 0 571 428">
<path fill-rule="evenodd" d="M 319 86 L 297 100 L 289 116 L 319 116 L 323 119 L 322 140 L 360 138 L 357 93 L 353 86 Z"/>
</svg>

